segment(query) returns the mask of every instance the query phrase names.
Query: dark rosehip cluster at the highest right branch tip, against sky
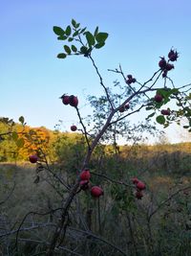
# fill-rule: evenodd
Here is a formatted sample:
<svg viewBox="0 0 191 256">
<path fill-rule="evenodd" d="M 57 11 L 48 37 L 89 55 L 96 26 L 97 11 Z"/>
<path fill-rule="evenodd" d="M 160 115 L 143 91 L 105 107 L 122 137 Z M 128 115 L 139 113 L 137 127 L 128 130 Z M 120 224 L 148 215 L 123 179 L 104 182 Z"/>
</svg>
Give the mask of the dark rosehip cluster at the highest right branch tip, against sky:
<svg viewBox="0 0 191 256">
<path fill-rule="evenodd" d="M 160 57 L 161 59 L 159 60 L 159 67 L 163 71 L 162 77 L 166 78 L 168 71 L 172 70 L 175 68 L 175 66 L 169 61 L 176 61 L 177 58 L 179 58 L 179 54 L 177 51 L 174 51 L 173 49 L 170 50 L 168 53 L 168 61 L 164 57 Z"/>
</svg>

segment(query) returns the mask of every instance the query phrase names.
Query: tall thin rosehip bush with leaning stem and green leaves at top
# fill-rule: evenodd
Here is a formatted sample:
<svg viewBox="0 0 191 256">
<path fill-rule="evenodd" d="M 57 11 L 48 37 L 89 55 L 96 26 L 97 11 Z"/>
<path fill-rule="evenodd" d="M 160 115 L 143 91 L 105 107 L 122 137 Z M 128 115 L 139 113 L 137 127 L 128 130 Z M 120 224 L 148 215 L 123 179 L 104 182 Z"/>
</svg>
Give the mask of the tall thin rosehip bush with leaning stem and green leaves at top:
<svg viewBox="0 0 191 256">
<path fill-rule="evenodd" d="M 188 101 L 190 99 L 190 95 L 186 93 L 186 91 L 188 91 L 191 84 L 186 84 L 177 88 L 169 77 L 170 71 L 174 68 L 174 64 L 172 62 L 176 61 L 179 57 L 177 51 L 171 49 L 168 53 L 168 60 L 161 58 L 159 60 L 159 70 L 156 71 L 151 79 L 143 83 L 137 81 L 137 79 L 135 79 L 132 75 L 128 75 L 126 77 L 121 66 L 115 70 L 111 70 L 112 72 L 122 76 L 124 82 L 126 83 L 126 87 L 121 88 L 122 93 L 114 95 L 111 93 L 111 90 L 104 85 L 102 77 L 96 66 L 96 62 L 92 57 L 93 51 L 100 49 L 105 45 L 108 34 L 99 32 L 98 27 L 96 27 L 94 33 L 91 33 L 87 31 L 86 28 L 81 28 L 80 24 L 76 23 L 74 19 L 72 20 L 72 25 L 67 26 L 65 30 L 59 27 L 53 27 L 53 32 L 58 35 L 57 39 L 68 41 L 69 43 L 75 42 L 77 44 L 65 44 L 65 52 L 58 54 L 57 58 L 67 58 L 71 56 L 83 56 L 85 58 L 89 58 L 96 70 L 100 85 L 105 92 L 105 96 L 96 102 L 96 104 L 98 103 L 98 107 L 101 109 L 95 113 L 96 122 L 98 124 L 96 127 L 96 134 L 94 134 L 94 137 L 91 140 L 89 137 L 89 132 L 87 131 L 87 128 L 80 117 L 77 105 L 74 106 L 87 142 L 87 153 L 79 168 L 81 170 L 80 172 L 83 172 L 84 169 L 89 167 L 92 154 L 101 138 L 107 134 L 107 131 L 111 130 L 114 133 L 114 130 L 117 131 L 116 125 L 118 125 L 118 128 L 120 128 L 121 120 L 124 120 L 124 118 L 127 118 L 143 108 L 148 111 L 152 111 L 152 113 L 148 115 L 147 120 L 150 120 L 154 115 L 157 115 L 156 121 L 164 128 L 168 127 L 172 122 L 180 123 L 180 117 L 185 116 L 189 124 L 186 128 L 190 129 L 191 112 L 190 102 Z M 158 87 L 157 81 L 159 81 L 161 77 L 163 79 L 163 86 Z M 138 87 L 134 86 L 135 83 Z M 149 96 L 149 93 L 151 92 L 153 92 L 154 95 Z M 92 102 L 94 100 L 95 98 L 91 99 Z M 170 101 L 176 101 L 178 109 L 161 109 L 161 107 L 164 107 Z M 129 111 L 131 104 L 132 108 Z M 126 111 L 127 109 L 128 111 Z M 103 121 L 103 118 L 106 118 L 105 122 Z M 117 132 L 115 134 L 117 134 Z M 68 211 L 77 193 L 79 184 L 80 176 L 78 176 L 76 179 L 74 186 L 63 203 L 61 221 L 59 221 L 53 233 L 53 239 L 48 252 L 49 256 L 53 255 L 54 247 L 56 246 L 61 233 L 63 232 L 65 234 L 67 228 L 66 220 Z M 63 239 L 64 235 L 62 236 L 62 240 Z"/>
</svg>

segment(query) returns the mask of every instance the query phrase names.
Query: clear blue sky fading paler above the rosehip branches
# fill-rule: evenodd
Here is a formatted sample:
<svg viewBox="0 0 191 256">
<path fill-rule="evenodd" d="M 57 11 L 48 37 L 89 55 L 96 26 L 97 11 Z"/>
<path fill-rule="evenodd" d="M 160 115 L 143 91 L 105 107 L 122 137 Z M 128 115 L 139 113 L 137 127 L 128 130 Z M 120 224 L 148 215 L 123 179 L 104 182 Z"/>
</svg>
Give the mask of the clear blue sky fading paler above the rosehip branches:
<svg viewBox="0 0 191 256">
<path fill-rule="evenodd" d="M 149 79 L 172 46 L 180 58 L 171 77 L 190 82 L 190 10 L 190 0 L 0 0 L 0 116 L 23 115 L 28 125 L 47 128 L 63 120 L 68 129 L 76 114 L 58 97 L 77 95 L 85 114 L 85 97 L 101 93 L 87 58 L 56 58 L 62 43 L 53 26 L 65 28 L 72 18 L 109 33 L 94 56 L 107 85 L 117 79 L 107 69 L 118 63 L 138 81 Z"/>
</svg>

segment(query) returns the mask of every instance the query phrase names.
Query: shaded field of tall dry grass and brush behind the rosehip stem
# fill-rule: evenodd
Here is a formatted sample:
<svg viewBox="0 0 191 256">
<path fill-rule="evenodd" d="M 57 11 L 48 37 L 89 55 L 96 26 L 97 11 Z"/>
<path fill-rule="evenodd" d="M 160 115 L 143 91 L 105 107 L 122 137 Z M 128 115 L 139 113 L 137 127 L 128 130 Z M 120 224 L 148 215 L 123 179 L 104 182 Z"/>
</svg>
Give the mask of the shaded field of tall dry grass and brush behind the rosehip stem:
<svg viewBox="0 0 191 256">
<path fill-rule="evenodd" d="M 180 153 L 174 158 L 143 155 L 111 157 L 101 163 L 101 172 L 100 166 L 93 169 L 92 183 L 103 187 L 104 196 L 96 200 L 88 192 L 77 194 L 66 239 L 55 255 L 191 255 L 190 160 L 186 156 L 182 165 Z M 74 182 L 75 175 L 62 166 L 51 168 L 68 184 Z M 28 163 L 0 164 L 0 255 L 46 255 L 60 218 L 58 208 L 67 197 L 53 174 L 36 172 Z M 140 200 L 135 198 L 133 175 L 146 183 Z"/>
</svg>

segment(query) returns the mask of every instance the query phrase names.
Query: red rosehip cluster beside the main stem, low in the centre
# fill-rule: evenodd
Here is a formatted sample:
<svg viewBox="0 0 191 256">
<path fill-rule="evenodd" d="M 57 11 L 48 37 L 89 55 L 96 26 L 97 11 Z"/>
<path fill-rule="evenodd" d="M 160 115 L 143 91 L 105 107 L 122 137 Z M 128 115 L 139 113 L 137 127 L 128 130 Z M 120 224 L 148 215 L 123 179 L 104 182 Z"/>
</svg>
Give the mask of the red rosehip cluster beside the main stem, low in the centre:
<svg viewBox="0 0 191 256">
<path fill-rule="evenodd" d="M 79 185 L 80 185 L 80 189 L 81 190 L 88 190 L 90 189 L 90 178 L 91 178 L 91 174 L 90 174 L 90 171 L 89 169 L 85 169 L 81 172 L 81 174 L 79 175 L 80 177 L 80 182 L 79 182 Z M 94 197 L 94 198 L 99 198 L 100 196 L 103 195 L 103 190 L 98 187 L 98 186 L 93 186 L 91 188 L 91 195 Z"/>
</svg>

